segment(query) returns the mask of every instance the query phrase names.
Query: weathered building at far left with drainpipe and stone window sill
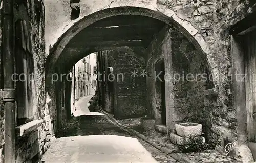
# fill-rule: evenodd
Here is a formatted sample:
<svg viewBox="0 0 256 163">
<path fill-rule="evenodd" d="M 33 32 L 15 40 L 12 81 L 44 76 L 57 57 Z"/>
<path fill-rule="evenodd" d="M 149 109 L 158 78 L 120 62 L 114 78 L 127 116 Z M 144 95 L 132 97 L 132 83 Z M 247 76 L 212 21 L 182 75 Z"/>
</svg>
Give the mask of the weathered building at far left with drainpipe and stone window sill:
<svg viewBox="0 0 256 163">
<path fill-rule="evenodd" d="M 44 2 L 1 1 L 0 16 L 0 162 L 34 162 L 52 137 L 45 107 Z"/>
</svg>

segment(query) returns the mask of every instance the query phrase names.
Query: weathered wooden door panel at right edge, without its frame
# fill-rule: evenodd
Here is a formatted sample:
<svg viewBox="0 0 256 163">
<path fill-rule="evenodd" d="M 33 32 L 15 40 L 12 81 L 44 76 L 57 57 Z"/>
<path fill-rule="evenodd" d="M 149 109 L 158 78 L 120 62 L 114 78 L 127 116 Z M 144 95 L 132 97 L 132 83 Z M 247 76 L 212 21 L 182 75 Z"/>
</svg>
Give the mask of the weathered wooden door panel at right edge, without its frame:
<svg viewBox="0 0 256 163">
<path fill-rule="evenodd" d="M 243 43 L 248 141 L 256 149 L 256 30 L 246 34 Z"/>
</svg>

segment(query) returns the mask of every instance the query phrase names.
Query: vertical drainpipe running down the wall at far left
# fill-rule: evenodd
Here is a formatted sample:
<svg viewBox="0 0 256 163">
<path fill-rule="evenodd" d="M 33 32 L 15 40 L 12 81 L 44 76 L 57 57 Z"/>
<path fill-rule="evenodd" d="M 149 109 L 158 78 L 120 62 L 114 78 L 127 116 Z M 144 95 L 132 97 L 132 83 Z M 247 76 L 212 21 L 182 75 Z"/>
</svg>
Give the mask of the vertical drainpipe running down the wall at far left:
<svg viewBox="0 0 256 163">
<path fill-rule="evenodd" d="M 14 35 L 13 0 L 3 1 L 3 101 L 5 109 L 5 162 L 15 162 L 15 89 L 14 73 Z"/>
</svg>

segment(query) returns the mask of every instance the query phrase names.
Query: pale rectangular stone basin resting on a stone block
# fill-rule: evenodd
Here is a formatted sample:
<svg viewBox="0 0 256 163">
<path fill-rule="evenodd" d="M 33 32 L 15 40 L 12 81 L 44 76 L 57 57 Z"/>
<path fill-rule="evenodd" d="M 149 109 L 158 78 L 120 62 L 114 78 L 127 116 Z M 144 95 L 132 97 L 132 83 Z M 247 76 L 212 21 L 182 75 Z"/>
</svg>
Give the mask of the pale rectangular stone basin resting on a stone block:
<svg viewBox="0 0 256 163">
<path fill-rule="evenodd" d="M 176 132 L 181 137 L 195 137 L 202 134 L 202 125 L 198 123 L 179 123 L 175 124 Z"/>
</svg>

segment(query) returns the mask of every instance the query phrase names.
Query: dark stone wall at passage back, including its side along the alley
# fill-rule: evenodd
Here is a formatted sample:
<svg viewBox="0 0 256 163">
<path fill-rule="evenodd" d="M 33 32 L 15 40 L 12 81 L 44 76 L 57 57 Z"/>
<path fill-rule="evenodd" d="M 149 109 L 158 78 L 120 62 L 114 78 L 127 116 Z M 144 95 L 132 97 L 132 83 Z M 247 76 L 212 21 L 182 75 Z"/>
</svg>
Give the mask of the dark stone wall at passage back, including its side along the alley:
<svg viewBox="0 0 256 163">
<path fill-rule="evenodd" d="M 108 74 L 106 74 L 105 79 L 108 82 L 108 90 L 105 92 L 106 110 L 112 111 L 116 118 L 144 115 L 146 112 L 146 76 L 141 76 L 141 73 L 145 71 L 145 64 L 133 54 L 118 50 L 110 51 L 107 58 L 107 67 L 113 67 L 116 82 L 108 82 Z M 132 72 L 137 72 L 137 75 L 133 76 Z M 114 89 L 116 89 L 116 105 Z M 114 110 L 112 110 L 113 107 Z"/>
</svg>

